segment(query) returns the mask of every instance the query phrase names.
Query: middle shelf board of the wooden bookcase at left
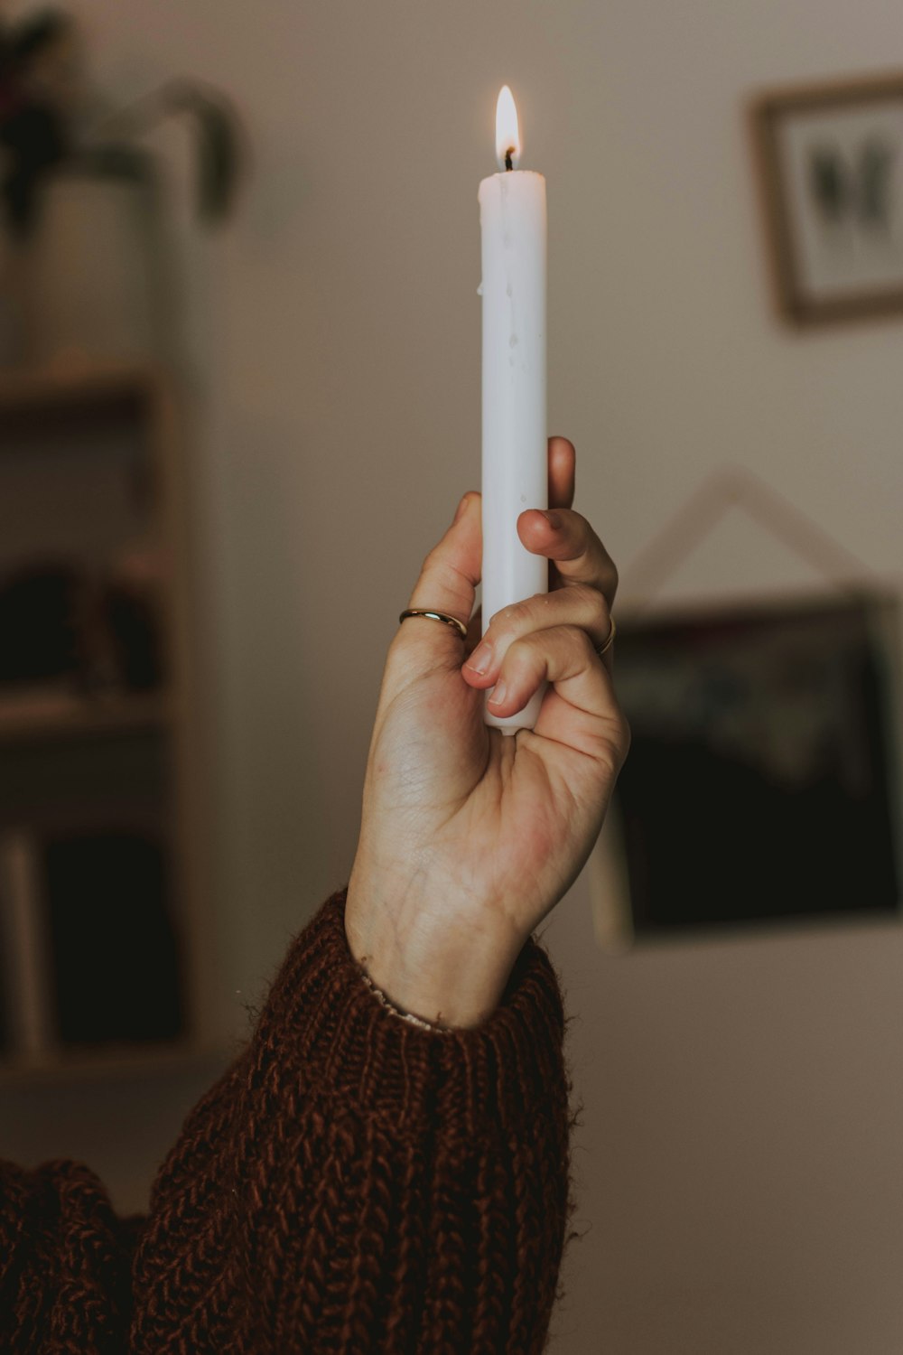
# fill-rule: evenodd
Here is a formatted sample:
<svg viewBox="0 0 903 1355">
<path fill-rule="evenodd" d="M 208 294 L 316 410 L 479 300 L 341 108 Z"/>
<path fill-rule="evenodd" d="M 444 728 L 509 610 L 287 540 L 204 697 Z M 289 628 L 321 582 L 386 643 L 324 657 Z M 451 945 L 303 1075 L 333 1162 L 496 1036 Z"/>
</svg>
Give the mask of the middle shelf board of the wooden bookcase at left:
<svg viewBox="0 0 903 1355">
<path fill-rule="evenodd" d="M 173 718 L 161 691 L 81 698 L 69 692 L 0 696 L 0 745 L 162 728 Z"/>
</svg>

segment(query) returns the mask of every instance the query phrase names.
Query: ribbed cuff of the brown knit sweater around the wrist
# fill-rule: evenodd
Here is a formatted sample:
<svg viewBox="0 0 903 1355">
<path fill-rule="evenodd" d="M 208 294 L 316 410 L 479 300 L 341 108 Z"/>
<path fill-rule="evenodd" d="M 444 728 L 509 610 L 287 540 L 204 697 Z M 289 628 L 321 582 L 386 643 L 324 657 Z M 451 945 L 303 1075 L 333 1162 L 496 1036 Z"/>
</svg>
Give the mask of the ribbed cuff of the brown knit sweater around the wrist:
<svg viewBox="0 0 903 1355">
<path fill-rule="evenodd" d="M 531 938 L 495 1011 L 467 1030 L 399 1019 L 366 981 L 345 936 L 345 889 L 292 940 L 269 989 L 256 1042 L 322 1095 L 395 1123 L 424 1117 L 468 1134 L 523 1127 L 563 1079 L 560 986 Z"/>
</svg>

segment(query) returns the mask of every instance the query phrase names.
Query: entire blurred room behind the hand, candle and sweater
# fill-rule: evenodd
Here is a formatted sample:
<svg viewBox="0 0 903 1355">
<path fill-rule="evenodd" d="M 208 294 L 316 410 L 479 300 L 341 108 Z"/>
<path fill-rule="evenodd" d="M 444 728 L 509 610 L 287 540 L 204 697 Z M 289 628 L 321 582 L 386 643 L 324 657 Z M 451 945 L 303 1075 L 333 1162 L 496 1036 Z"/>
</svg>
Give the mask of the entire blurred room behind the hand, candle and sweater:
<svg viewBox="0 0 903 1355">
<path fill-rule="evenodd" d="M 386 648 L 479 488 L 508 81 L 646 772 L 543 931 L 583 1107 L 551 1350 L 896 1352 L 898 14 L 0 18 L 0 1154 L 146 1207 L 348 879 Z"/>
</svg>

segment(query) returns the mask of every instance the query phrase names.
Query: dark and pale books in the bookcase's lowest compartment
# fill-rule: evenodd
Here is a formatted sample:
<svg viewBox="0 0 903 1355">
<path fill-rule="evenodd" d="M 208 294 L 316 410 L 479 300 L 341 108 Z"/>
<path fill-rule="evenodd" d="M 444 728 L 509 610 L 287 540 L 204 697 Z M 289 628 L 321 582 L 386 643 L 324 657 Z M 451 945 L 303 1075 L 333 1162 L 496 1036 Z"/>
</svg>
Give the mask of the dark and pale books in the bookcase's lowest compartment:
<svg viewBox="0 0 903 1355">
<path fill-rule="evenodd" d="M 184 1034 L 164 844 L 118 825 L 0 835 L 3 1056 Z"/>
</svg>

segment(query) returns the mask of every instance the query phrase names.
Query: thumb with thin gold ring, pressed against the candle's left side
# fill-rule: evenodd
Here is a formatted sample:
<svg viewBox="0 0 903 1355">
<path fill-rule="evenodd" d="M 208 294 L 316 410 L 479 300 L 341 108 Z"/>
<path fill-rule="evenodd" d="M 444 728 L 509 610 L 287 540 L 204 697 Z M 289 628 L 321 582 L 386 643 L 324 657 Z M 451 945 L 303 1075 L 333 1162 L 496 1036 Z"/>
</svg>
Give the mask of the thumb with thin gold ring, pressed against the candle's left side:
<svg viewBox="0 0 903 1355">
<path fill-rule="evenodd" d="M 443 611 L 467 626 L 474 610 L 483 556 L 482 495 L 468 491 L 458 505 L 455 520 L 429 551 L 409 607 Z M 429 664 L 449 654 L 455 664 L 463 657 L 462 637 L 454 626 L 429 617 L 408 617 L 399 626 L 397 644 L 413 661 L 421 654 Z"/>
</svg>

